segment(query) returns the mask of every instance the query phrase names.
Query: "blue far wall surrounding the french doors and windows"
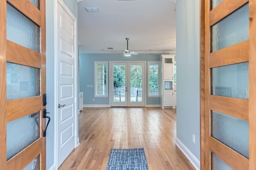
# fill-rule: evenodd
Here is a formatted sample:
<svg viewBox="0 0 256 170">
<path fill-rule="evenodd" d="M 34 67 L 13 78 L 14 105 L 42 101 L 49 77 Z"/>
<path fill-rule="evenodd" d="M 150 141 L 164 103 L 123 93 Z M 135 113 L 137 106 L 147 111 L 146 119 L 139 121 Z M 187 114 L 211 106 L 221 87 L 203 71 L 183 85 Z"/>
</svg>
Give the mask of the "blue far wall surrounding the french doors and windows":
<svg viewBox="0 0 256 170">
<path fill-rule="evenodd" d="M 108 98 L 94 97 L 94 61 L 160 61 L 161 54 L 139 54 L 124 57 L 119 54 L 79 54 L 80 92 L 84 92 L 84 104 L 108 105 Z M 109 63 L 108 63 L 109 64 Z M 146 63 L 147 67 L 147 63 Z M 108 68 L 110 66 L 108 65 Z M 109 69 L 110 70 L 110 69 Z M 146 72 L 147 76 L 147 72 Z M 147 82 L 147 81 L 146 81 Z M 110 82 L 109 82 L 110 83 Z M 93 85 L 88 88 L 87 85 Z M 147 87 L 147 84 L 145 84 Z M 92 99 L 95 99 L 93 102 Z M 147 97 L 147 105 L 160 105 L 160 98 Z"/>
</svg>

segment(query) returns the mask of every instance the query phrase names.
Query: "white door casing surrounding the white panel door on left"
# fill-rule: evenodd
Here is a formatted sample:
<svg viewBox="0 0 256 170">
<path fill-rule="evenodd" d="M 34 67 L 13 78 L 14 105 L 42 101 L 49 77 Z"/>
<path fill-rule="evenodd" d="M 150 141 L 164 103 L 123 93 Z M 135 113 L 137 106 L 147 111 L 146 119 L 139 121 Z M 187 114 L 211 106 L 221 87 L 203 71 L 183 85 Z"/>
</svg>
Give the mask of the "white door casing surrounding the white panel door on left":
<svg viewBox="0 0 256 170">
<path fill-rule="evenodd" d="M 54 72 L 54 148 L 55 148 L 55 152 L 54 152 L 54 164 L 56 166 L 56 169 L 58 169 L 58 52 L 57 52 L 57 16 L 58 16 L 58 4 L 60 4 L 60 6 L 67 12 L 68 15 L 70 15 L 70 17 L 75 21 L 75 29 L 74 29 L 74 39 L 75 39 L 75 43 L 74 43 L 74 50 L 75 50 L 75 68 L 74 68 L 74 75 L 75 75 L 75 94 L 74 94 L 74 102 L 75 102 L 75 111 L 74 111 L 74 117 L 75 117 L 75 129 L 74 129 L 74 135 L 75 135 L 75 143 L 74 143 L 74 148 L 78 147 L 79 143 L 79 133 L 78 133 L 78 101 L 77 101 L 77 96 L 78 96 L 78 86 L 77 86 L 77 82 L 78 82 L 78 70 L 77 70 L 77 63 L 78 63 L 78 43 L 77 43 L 77 18 L 74 16 L 74 14 L 71 12 L 71 10 L 68 8 L 68 6 L 66 6 L 66 4 L 64 3 L 63 0 L 55 0 L 55 7 L 54 7 L 54 21 L 55 21 L 55 25 L 54 25 L 54 32 L 55 32 L 55 37 L 54 37 L 54 54 L 55 54 L 55 72 Z"/>
</svg>

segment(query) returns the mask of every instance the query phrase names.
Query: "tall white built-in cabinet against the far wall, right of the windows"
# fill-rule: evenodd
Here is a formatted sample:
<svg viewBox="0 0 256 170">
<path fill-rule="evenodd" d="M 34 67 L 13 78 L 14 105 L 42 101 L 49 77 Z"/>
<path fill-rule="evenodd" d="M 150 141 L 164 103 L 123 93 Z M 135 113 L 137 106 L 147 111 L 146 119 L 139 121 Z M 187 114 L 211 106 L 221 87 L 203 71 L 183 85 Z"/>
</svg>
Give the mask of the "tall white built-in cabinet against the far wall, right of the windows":
<svg viewBox="0 0 256 170">
<path fill-rule="evenodd" d="M 160 106 L 175 108 L 174 55 L 161 55 L 160 57 Z"/>
</svg>

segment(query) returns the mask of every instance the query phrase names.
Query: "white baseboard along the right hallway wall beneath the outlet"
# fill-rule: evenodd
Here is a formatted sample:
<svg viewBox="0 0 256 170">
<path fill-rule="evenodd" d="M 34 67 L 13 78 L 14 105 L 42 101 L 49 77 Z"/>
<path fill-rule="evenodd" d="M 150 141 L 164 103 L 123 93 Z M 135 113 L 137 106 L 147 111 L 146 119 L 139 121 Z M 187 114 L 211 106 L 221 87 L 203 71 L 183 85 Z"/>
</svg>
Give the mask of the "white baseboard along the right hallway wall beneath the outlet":
<svg viewBox="0 0 256 170">
<path fill-rule="evenodd" d="M 176 146 L 183 152 L 183 154 L 188 158 L 191 164 L 197 169 L 200 170 L 200 161 L 192 152 L 176 137 L 175 140 Z"/>
</svg>

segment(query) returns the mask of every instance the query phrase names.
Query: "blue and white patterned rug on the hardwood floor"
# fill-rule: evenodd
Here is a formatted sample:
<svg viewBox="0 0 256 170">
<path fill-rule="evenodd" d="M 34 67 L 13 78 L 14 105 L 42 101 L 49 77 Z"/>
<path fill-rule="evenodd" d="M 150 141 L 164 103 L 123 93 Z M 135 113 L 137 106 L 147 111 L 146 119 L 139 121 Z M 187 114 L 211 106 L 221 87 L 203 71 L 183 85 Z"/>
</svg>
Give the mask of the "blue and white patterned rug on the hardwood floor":
<svg viewBox="0 0 256 170">
<path fill-rule="evenodd" d="M 106 170 L 148 170 L 144 149 L 111 149 Z"/>
</svg>

